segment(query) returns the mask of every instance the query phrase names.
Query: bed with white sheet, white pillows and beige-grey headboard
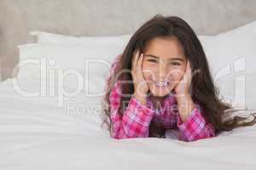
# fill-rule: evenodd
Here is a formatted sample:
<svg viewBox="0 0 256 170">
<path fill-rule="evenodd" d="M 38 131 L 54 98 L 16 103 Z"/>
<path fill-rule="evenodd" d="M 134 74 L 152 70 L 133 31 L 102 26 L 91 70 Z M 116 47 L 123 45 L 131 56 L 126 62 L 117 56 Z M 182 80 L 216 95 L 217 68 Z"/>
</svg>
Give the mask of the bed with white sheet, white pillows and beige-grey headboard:
<svg viewBox="0 0 256 170">
<path fill-rule="evenodd" d="M 117 140 L 102 129 L 100 111 L 108 66 L 132 32 L 159 13 L 189 21 L 221 96 L 256 111 L 254 8 L 241 0 L 1 1 L 0 169 L 255 169 L 255 125 L 189 143 L 172 130 L 166 139 Z M 76 68 L 73 74 L 82 72 L 84 58 L 92 67 L 63 84 L 48 84 L 38 65 L 20 69 L 22 59 L 43 57 L 51 69 Z M 84 86 L 75 91 L 74 81 Z"/>
</svg>

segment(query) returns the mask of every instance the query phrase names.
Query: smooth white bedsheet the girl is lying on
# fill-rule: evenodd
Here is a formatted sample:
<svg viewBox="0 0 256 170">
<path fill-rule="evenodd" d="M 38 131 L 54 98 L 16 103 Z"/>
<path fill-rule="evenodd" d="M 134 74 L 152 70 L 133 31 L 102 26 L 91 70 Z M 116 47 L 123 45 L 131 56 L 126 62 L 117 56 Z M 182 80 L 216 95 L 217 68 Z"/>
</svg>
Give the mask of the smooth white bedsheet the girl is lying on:
<svg viewBox="0 0 256 170">
<path fill-rule="evenodd" d="M 24 82 L 33 86 L 31 82 Z M 67 114 L 52 97 L 25 98 L 0 84 L 0 169 L 256 169 L 256 126 L 212 139 L 111 139 L 99 114 Z M 99 99 L 78 96 L 93 105 Z"/>
</svg>

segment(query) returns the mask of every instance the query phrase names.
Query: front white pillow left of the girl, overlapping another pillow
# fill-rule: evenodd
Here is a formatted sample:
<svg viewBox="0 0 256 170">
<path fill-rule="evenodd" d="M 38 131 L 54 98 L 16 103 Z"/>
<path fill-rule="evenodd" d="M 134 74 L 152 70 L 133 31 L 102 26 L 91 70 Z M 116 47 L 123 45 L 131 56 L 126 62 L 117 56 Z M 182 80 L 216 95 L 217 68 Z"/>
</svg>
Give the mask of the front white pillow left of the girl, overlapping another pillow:
<svg viewBox="0 0 256 170">
<path fill-rule="evenodd" d="M 67 94 L 79 91 L 86 96 L 99 97 L 104 94 L 105 80 L 113 59 L 125 47 L 34 43 L 20 45 L 19 48 L 18 80 L 45 82 L 49 90 L 64 88 Z"/>
</svg>

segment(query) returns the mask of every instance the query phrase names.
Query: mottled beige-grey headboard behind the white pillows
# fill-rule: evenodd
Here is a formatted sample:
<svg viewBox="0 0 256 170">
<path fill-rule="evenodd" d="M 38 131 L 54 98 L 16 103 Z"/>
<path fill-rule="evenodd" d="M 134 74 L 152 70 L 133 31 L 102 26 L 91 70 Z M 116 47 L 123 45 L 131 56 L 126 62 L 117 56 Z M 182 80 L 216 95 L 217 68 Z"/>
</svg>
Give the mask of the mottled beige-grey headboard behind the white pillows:
<svg viewBox="0 0 256 170">
<path fill-rule="evenodd" d="M 1 0 L 2 80 L 19 62 L 18 44 L 30 31 L 73 36 L 131 34 L 155 14 L 177 15 L 199 35 L 213 35 L 256 20 L 255 0 Z"/>
</svg>

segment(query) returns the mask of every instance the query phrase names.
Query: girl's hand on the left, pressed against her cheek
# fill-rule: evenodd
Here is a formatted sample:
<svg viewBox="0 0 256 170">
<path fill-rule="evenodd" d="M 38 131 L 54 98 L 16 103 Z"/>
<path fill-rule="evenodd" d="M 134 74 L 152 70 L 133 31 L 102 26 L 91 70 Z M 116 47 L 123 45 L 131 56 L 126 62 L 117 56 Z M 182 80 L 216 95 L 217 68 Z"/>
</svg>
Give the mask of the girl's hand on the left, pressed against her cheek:
<svg viewBox="0 0 256 170">
<path fill-rule="evenodd" d="M 134 84 L 134 95 L 137 98 L 146 98 L 148 93 L 148 82 L 143 76 L 143 54 L 137 50 L 132 59 L 131 75 Z"/>
</svg>

